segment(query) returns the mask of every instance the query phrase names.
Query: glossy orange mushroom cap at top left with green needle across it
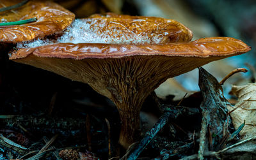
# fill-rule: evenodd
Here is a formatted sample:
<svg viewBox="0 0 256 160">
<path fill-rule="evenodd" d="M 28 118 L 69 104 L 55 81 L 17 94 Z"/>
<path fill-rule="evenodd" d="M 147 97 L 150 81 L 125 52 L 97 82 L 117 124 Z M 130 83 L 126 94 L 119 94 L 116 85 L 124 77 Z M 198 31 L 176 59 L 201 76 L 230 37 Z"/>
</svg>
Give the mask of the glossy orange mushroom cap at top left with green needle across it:
<svg viewBox="0 0 256 160">
<path fill-rule="evenodd" d="M 5 6 L 12 6 L 20 1 L 3 1 Z M 75 18 L 74 13 L 50 1 L 28 3 L 0 13 L 1 20 L 13 22 L 36 17 L 37 21 L 24 25 L 0 26 L 0 41 L 4 43 L 17 43 L 30 41 L 35 38 L 44 38 L 47 35 L 58 34 L 66 29 Z"/>
</svg>

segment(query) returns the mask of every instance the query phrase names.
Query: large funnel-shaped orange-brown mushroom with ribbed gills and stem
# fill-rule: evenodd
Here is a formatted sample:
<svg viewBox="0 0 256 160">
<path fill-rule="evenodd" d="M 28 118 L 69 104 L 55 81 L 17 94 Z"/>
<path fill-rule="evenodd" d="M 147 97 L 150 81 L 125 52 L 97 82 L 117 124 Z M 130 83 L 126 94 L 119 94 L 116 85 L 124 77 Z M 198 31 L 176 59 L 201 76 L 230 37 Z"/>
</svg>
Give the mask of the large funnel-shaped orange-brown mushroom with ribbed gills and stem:
<svg viewBox="0 0 256 160">
<path fill-rule="evenodd" d="M 140 17 L 136 17 L 136 22 L 145 23 L 147 20 L 143 21 Z M 157 23 L 156 19 L 153 21 Z M 168 23 L 168 20 L 166 22 Z M 98 23 L 96 24 L 94 27 L 99 26 Z M 121 24 L 124 25 L 123 22 Z M 107 25 L 109 23 L 100 27 L 104 28 Z M 152 28 L 147 28 L 147 25 L 140 26 L 143 26 L 141 29 L 145 31 L 148 31 L 147 29 L 153 31 Z M 67 29 L 67 32 L 72 33 L 72 27 Z M 99 31 L 95 32 L 99 35 Z M 116 34 L 109 34 L 109 36 L 113 35 Z M 159 38 L 166 40 L 164 34 L 160 35 Z M 191 36 L 191 34 L 183 35 Z M 100 34 L 100 36 L 106 35 Z M 179 37 L 182 36 L 179 34 L 175 36 L 175 38 Z M 122 123 L 119 142 L 124 147 L 128 147 L 140 137 L 140 109 L 143 101 L 167 78 L 186 73 L 208 62 L 250 50 L 250 47 L 242 41 L 227 37 L 202 38 L 180 43 L 159 41 L 161 44 L 154 41 L 127 43 L 125 37 L 123 38 L 124 43 L 118 40 L 118 43 L 85 41 L 74 44 L 52 40 L 52 43 L 48 42 L 46 45 L 43 43 L 43 46 L 32 45 L 33 48 L 29 48 L 28 43 L 23 46 L 27 48 L 14 50 L 10 59 L 52 71 L 71 80 L 84 82 L 111 99 L 118 108 Z M 64 39 L 67 40 L 67 35 Z M 189 40 L 182 38 L 182 40 L 186 39 Z"/>
</svg>

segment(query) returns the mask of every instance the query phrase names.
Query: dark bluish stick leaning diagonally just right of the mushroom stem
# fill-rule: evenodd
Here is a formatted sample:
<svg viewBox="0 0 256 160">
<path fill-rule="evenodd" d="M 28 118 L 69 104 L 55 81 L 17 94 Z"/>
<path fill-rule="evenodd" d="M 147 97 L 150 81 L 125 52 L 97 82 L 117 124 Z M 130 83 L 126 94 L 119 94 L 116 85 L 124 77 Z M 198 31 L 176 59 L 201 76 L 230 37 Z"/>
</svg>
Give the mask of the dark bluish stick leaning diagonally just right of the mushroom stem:
<svg viewBox="0 0 256 160">
<path fill-rule="evenodd" d="M 168 122 L 170 117 L 173 116 L 173 112 L 171 110 L 167 110 L 157 121 L 157 123 L 148 131 L 145 135 L 145 137 L 140 141 L 139 145 L 137 145 L 130 154 L 130 156 L 127 158 L 127 160 L 134 160 L 137 159 L 138 156 L 140 156 L 141 152 L 145 147 L 148 145 L 148 143 L 156 136 L 158 131 L 160 131 L 163 126 Z"/>
</svg>

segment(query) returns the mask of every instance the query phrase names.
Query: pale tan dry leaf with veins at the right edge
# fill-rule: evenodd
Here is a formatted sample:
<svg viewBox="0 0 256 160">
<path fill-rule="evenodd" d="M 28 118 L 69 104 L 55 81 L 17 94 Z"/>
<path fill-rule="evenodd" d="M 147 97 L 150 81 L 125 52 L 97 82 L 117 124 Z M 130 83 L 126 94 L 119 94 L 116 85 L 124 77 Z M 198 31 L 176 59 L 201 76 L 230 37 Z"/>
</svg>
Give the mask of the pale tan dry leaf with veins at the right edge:
<svg viewBox="0 0 256 160">
<path fill-rule="evenodd" d="M 237 129 L 245 120 L 245 126 L 239 133 L 241 138 L 256 136 L 256 84 L 234 85 L 231 93 L 238 98 L 235 106 L 228 106 L 234 127 Z"/>
</svg>

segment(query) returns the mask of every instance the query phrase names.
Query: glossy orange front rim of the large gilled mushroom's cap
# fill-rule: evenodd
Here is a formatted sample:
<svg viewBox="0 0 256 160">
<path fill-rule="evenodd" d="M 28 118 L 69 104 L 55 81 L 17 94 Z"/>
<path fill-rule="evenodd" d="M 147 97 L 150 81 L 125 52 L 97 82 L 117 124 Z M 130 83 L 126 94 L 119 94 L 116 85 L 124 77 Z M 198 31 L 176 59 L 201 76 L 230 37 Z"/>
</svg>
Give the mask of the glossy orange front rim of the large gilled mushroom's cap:
<svg viewBox="0 0 256 160">
<path fill-rule="evenodd" d="M 201 38 L 183 43 L 166 43 L 154 45 L 102 44 L 102 43 L 56 43 L 35 48 L 20 48 L 14 51 L 10 59 L 23 60 L 30 54 L 37 57 L 54 57 L 61 59 L 107 59 L 140 55 L 163 55 L 168 57 L 200 57 L 207 61 L 214 56 L 218 59 L 248 52 L 250 47 L 241 40 L 229 37 Z M 20 59 L 20 60 L 19 60 Z M 177 64 L 179 65 L 179 64 Z M 183 66 L 180 66 L 183 67 Z M 189 66 L 193 67 L 193 64 Z"/>
</svg>

